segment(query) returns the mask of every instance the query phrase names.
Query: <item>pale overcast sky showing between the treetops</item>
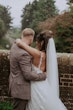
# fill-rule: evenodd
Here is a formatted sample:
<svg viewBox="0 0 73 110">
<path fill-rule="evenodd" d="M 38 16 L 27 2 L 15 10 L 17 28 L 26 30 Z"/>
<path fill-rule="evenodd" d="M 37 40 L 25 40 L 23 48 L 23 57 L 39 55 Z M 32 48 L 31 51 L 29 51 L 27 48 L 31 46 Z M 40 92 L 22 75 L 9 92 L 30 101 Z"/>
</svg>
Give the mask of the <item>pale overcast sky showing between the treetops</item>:
<svg viewBox="0 0 73 110">
<path fill-rule="evenodd" d="M 29 2 L 33 2 L 34 0 L 0 0 L 0 4 L 4 6 L 11 7 L 10 13 L 11 17 L 13 18 L 13 26 L 20 26 L 21 23 L 21 15 L 22 10 L 25 7 L 26 4 Z M 56 7 L 60 10 L 60 12 L 63 12 L 67 9 L 67 0 L 55 0 Z"/>
</svg>

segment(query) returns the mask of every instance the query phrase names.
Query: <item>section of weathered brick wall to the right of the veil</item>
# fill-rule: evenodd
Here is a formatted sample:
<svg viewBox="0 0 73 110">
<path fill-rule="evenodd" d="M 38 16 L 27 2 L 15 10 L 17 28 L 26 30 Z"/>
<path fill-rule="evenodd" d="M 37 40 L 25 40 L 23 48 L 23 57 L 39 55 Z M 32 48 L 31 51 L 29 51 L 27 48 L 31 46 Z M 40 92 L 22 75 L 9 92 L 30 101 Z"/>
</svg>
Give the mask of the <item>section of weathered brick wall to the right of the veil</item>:
<svg viewBox="0 0 73 110">
<path fill-rule="evenodd" d="M 58 53 L 60 97 L 73 110 L 73 54 Z"/>
</svg>

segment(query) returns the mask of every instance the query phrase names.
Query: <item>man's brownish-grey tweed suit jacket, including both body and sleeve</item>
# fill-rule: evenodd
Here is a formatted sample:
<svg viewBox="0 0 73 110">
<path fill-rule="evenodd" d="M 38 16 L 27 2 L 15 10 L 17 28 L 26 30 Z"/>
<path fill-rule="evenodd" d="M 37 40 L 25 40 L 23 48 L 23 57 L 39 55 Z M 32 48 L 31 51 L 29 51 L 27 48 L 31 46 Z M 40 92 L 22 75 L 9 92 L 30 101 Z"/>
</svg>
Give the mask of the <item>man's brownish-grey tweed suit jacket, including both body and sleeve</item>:
<svg viewBox="0 0 73 110">
<path fill-rule="evenodd" d="M 9 93 L 14 98 L 29 100 L 31 97 L 31 81 L 45 80 L 44 73 L 32 71 L 32 56 L 13 44 L 10 51 Z"/>
</svg>

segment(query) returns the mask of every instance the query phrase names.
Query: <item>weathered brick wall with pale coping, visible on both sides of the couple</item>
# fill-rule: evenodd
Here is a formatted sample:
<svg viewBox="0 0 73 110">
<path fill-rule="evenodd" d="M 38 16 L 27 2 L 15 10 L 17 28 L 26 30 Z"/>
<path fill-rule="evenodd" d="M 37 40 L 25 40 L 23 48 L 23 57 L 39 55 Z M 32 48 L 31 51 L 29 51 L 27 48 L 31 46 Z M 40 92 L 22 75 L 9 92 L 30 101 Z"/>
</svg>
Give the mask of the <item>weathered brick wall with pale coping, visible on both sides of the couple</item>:
<svg viewBox="0 0 73 110">
<path fill-rule="evenodd" d="M 57 59 L 60 98 L 68 110 L 73 110 L 73 54 L 57 53 Z M 9 51 L 0 51 L 0 100 L 8 100 L 9 66 Z"/>
</svg>

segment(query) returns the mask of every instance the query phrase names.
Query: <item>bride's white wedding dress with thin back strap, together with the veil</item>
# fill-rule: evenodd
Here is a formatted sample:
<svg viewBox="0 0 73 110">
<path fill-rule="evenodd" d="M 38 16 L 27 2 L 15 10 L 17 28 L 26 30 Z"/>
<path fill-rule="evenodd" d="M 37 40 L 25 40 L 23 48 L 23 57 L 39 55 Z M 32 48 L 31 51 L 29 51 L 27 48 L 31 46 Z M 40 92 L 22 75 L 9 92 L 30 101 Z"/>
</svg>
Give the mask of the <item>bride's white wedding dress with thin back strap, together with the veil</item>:
<svg viewBox="0 0 73 110">
<path fill-rule="evenodd" d="M 41 63 L 42 56 L 38 68 L 32 65 L 32 69 L 37 74 L 42 73 L 40 70 Z M 67 110 L 59 99 L 57 58 L 52 38 L 49 40 L 47 46 L 47 78 L 45 81 L 31 82 L 31 100 L 28 102 L 26 110 Z"/>
</svg>

